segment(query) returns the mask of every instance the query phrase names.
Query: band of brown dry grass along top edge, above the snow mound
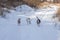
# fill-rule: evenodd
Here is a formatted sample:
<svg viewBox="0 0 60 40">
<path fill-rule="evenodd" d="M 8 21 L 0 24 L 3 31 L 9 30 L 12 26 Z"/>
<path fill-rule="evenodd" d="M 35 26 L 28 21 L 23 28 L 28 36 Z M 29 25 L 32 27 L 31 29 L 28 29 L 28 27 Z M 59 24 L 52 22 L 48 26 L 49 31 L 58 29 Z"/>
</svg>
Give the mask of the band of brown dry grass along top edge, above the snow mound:
<svg viewBox="0 0 60 40">
<path fill-rule="evenodd" d="M 16 7 L 20 4 L 27 4 L 30 7 L 36 7 L 36 8 L 41 7 L 42 8 L 42 7 L 48 7 L 48 5 L 50 5 L 51 3 L 50 2 L 43 2 L 42 3 L 42 1 L 40 1 L 40 0 L 19 0 L 19 1 L 17 1 L 17 0 L 8 0 L 5 3 L 0 1 L 0 6 L 2 5 L 2 6 L 7 7 L 7 8 L 10 8 L 12 6 Z M 55 5 L 60 6 L 60 4 L 58 4 L 58 3 L 55 3 Z"/>
</svg>

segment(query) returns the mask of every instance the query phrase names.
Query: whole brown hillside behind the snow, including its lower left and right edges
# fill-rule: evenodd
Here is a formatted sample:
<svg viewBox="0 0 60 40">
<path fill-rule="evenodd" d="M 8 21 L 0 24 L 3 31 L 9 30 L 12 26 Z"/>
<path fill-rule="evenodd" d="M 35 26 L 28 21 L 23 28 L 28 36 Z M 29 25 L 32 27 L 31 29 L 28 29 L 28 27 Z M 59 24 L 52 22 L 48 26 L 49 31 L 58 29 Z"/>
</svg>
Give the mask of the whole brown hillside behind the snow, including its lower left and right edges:
<svg viewBox="0 0 60 40">
<path fill-rule="evenodd" d="M 30 0 L 30 1 L 29 0 L 0 0 L 0 15 L 3 15 L 3 11 L 5 11 L 4 8 L 15 9 L 17 6 L 23 5 L 23 4 L 26 4 L 35 9 L 47 8 L 47 7 L 50 7 L 50 4 L 52 4 L 52 6 L 56 5 L 60 9 L 60 3 L 51 3 L 51 2 L 48 2 L 47 0 L 43 0 L 43 1 L 41 0 Z M 56 13 L 58 18 L 60 17 L 58 16 L 58 14 L 60 15 L 59 9 L 57 10 L 57 13 Z M 6 11 L 9 12 L 8 10 Z"/>
</svg>

